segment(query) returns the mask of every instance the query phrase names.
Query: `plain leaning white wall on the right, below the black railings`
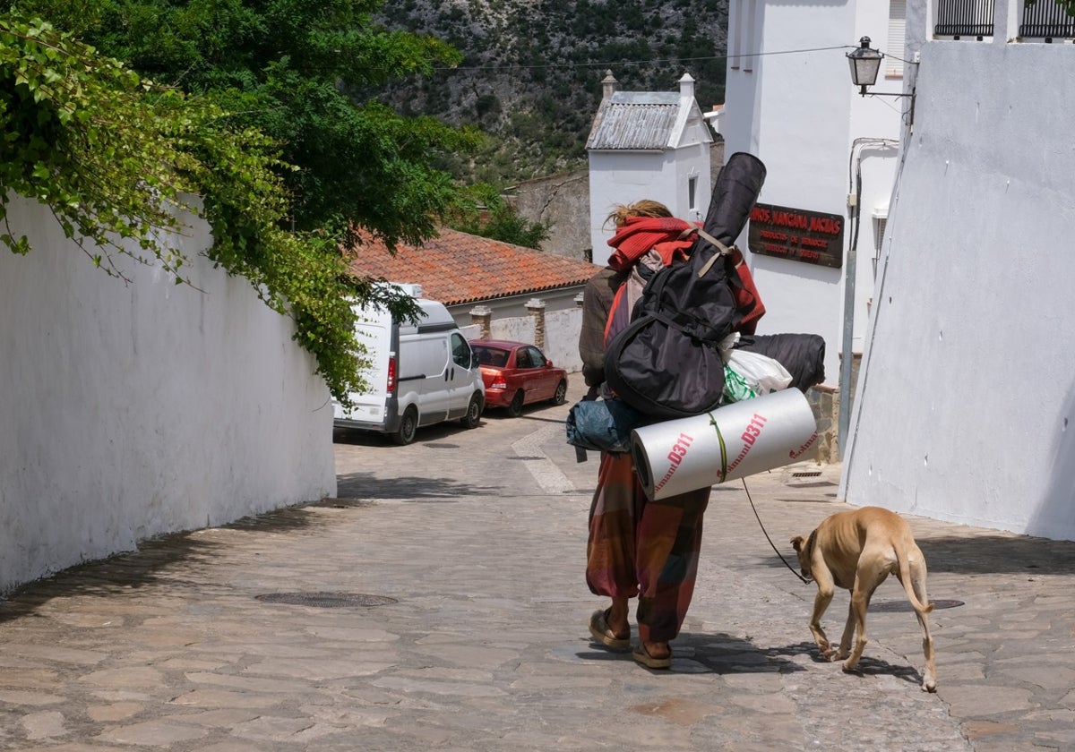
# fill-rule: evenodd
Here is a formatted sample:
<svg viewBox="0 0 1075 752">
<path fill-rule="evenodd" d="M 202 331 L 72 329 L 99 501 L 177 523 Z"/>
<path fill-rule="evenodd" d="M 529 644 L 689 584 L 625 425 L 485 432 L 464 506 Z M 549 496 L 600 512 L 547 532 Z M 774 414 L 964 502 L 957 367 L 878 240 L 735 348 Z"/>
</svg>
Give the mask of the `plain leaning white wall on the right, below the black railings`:
<svg viewBox="0 0 1075 752">
<path fill-rule="evenodd" d="M 921 47 L 841 493 L 1075 539 L 1075 45 L 1005 43 L 1005 4 Z"/>
</svg>

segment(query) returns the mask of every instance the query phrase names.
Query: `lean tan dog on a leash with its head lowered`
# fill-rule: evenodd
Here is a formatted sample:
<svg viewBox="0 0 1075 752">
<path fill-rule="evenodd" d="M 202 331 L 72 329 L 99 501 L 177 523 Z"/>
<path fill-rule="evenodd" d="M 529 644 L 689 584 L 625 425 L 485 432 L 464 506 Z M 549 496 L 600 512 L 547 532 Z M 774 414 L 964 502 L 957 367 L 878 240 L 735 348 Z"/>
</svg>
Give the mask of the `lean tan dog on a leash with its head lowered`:
<svg viewBox="0 0 1075 752">
<path fill-rule="evenodd" d="M 821 654 L 832 661 L 844 661 L 844 670 L 854 671 L 866 646 L 866 608 L 874 591 L 889 575 L 895 575 L 922 626 L 922 651 L 926 671 L 922 690 L 936 691 L 933 667 L 933 638 L 930 636 L 929 612 L 933 605 L 926 594 L 926 559 L 915 543 L 907 522 L 893 511 L 880 507 L 861 507 L 841 511 L 826 519 L 809 537 L 797 535 L 791 545 L 799 555 L 803 577 L 817 582 L 817 597 L 809 630 Z M 832 601 L 833 587 L 851 591 L 847 625 L 833 650 L 821 628 L 821 614 Z M 929 605 L 926 605 L 929 604 Z M 858 640 L 851 652 L 851 637 L 858 630 Z M 848 656 L 850 653 L 850 656 Z"/>
</svg>

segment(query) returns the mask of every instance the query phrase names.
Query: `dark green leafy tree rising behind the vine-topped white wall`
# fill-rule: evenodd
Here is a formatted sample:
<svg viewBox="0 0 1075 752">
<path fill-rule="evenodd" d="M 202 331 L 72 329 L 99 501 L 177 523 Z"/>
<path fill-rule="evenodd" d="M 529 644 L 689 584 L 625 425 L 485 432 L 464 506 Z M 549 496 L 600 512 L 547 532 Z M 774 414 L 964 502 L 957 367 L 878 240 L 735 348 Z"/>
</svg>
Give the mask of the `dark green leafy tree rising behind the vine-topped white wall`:
<svg viewBox="0 0 1075 752">
<path fill-rule="evenodd" d="M 454 66 L 432 37 L 374 24 L 381 0 L 76 0 L 61 25 L 155 81 L 207 98 L 235 127 L 280 145 L 278 171 L 299 231 L 364 227 L 389 247 L 435 232 L 456 198 L 444 154 L 473 150 L 477 135 L 433 118 L 405 118 L 372 97 L 386 82 Z"/>
</svg>

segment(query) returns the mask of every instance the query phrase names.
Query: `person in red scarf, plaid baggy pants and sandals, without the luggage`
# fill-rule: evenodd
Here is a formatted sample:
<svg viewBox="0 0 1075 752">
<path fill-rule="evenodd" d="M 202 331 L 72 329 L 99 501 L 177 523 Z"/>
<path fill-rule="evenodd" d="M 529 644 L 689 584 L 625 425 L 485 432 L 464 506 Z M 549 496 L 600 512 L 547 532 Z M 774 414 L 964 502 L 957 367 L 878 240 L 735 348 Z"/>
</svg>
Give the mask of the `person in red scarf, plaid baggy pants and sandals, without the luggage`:
<svg viewBox="0 0 1075 752">
<path fill-rule="evenodd" d="M 616 291 L 647 250 L 657 250 L 664 263 L 686 258 L 691 242 L 683 237 L 693 226 L 651 200 L 618 205 L 606 221 L 616 227 L 608 241 L 616 251 L 584 289 L 578 351 L 590 395 L 614 399 L 604 384 L 604 353 Z M 594 639 L 613 650 L 630 650 L 630 599 L 637 597 L 634 660 L 648 668 L 672 665 L 669 642 L 678 636 L 693 595 L 708 501 L 708 487 L 648 501 L 630 452 L 601 453 L 589 514 L 586 583 L 612 605 L 590 617 Z"/>
</svg>

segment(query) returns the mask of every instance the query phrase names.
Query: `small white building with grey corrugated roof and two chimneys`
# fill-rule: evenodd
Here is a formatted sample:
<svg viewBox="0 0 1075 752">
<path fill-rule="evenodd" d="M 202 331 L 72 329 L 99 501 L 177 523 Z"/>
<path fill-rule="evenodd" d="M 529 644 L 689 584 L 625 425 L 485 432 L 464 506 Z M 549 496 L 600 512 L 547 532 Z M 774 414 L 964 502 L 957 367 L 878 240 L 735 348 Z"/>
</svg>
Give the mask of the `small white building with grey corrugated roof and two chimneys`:
<svg viewBox="0 0 1075 752">
<path fill-rule="evenodd" d="M 616 204 L 653 199 L 680 219 L 705 218 L 713 133 L 687 73 L 679 78 L 678 91 L 617 91 L 612 71 L 602 86 L 586 150 L 592 261 L 604 265 L 614 231 L 604 220 Z"/>
</svg>

